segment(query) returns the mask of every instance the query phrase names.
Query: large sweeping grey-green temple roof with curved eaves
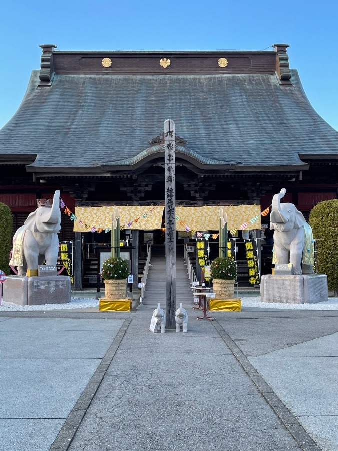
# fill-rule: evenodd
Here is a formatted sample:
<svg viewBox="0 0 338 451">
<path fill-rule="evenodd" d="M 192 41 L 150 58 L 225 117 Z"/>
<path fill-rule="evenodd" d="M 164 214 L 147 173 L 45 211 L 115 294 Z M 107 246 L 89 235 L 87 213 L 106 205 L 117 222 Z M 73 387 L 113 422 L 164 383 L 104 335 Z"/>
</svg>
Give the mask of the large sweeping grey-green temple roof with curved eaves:
<svg viewBox="0 0 338 451">
<path fill-rule="evenodd" d="M 77 73 L 62 69 L 60 55 L 53 51 L 49 81 L 32 72 L 18 111 L 0 130 L 0 160 L 29 155 L 31 172 L 142 165 L 161 152 L 161 144 L 149 142 L 168 118 L 186 141 L 179 154 L 200 167 L 301 170 L 306 155 L 338 158 L 338 132 L 312 108 L 296 70 L 288 70 L 286 84 L 278 67 L 266 73 Z M 136 58 L 136 52 L 128 55 Z"/>
</svg>

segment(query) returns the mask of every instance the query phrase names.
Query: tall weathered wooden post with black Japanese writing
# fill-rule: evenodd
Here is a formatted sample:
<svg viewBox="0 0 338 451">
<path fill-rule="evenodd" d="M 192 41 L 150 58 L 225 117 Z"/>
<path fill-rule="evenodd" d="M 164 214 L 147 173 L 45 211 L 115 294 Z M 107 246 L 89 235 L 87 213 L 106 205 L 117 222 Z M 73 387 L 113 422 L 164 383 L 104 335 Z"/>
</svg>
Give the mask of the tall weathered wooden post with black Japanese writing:
<svg viewBox="0 0 338 451">
<path fill-rule="evenodd" d="M 176 193 L 175 193 L 175 123 L 164 122 L 165 185 L 165 258 L 166 258 L 166 327 L 175 329 L 176 310 Z"/>
</svg>

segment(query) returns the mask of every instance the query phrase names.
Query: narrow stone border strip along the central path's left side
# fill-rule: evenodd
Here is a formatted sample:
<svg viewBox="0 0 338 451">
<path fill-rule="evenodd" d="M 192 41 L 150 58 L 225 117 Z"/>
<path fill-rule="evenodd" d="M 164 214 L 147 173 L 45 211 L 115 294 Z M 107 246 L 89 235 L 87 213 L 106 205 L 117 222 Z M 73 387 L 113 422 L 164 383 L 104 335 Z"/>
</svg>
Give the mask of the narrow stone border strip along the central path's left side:
<svg viewBox="0 0 338 451">
<path fill-rule="evenodd" d="M 56 439 L 49 448 L 50 451 L 67 451 L 67 449 L 69 448 L 76 434 L 76 431 L 78 430 L 80 423 L 83 417 L 85 416 L 88 407 L 92 402 L 95 393 L 97 392 L 102 382 L 102 379 L 104 378 L 106 371 L 109 365 L 111 364 L 125 333 L 127 332 L 128 326 L 131 323 L 131 321 L 132 318 L 127 318 L 120 327 L 108 351 L 102 358 L 95 373 L 91 377 L 86 388 L 84 389 L 79 399 L 75 403 L 73 409 L 71 410 L 70 414 L 68 415 L 65 424 L 62 426 Z"/>
</svg>

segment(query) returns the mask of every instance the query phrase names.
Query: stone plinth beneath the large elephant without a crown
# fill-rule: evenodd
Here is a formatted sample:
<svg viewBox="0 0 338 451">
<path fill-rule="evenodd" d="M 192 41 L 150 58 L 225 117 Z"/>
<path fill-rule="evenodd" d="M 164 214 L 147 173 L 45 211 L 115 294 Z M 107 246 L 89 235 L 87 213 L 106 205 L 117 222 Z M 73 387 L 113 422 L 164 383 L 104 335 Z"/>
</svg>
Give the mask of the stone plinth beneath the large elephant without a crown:
<svg viewBox="0 0 338 451">
<path fill-rule="evenodd" d="M 263 302 L 310 304 L 327 301 L 326 274 L 303 274 L 300 276 L 261 277 L 261 298 Z"/>
</svg>

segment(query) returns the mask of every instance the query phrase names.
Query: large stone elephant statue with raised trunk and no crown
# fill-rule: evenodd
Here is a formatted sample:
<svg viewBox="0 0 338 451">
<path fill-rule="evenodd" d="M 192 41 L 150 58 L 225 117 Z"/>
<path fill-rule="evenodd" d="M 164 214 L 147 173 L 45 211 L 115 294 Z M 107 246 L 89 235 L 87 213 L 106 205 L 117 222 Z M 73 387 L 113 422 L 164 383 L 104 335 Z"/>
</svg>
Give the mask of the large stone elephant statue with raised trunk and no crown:
<svg viewBox="0 0 338 451">
<path fill-rule="evenodd" d="M 277 262 L 291 263 L 294 274 L 313 273 L 314 242 L 312 229 L 293 203 L 282 203 L 286 189 L 281 189 L 272 200 L 270 229 L 274 229 L 274 253 Z"/>
</svg>

